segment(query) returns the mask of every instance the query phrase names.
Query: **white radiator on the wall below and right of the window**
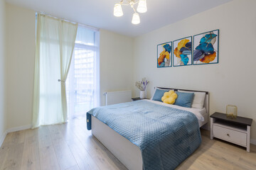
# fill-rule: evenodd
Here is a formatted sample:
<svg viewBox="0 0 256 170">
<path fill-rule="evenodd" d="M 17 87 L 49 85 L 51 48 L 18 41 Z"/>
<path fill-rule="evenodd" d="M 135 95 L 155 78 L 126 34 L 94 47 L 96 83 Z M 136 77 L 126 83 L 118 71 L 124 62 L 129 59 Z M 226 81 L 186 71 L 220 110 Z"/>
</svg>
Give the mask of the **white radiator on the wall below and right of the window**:
<svg viewBox="0 0 256 170">
<path fill-rule="evenodd" d="M 105 92 L 105 105 L 132 101 L 132 91 L 107 91 Z"/>
</svg>

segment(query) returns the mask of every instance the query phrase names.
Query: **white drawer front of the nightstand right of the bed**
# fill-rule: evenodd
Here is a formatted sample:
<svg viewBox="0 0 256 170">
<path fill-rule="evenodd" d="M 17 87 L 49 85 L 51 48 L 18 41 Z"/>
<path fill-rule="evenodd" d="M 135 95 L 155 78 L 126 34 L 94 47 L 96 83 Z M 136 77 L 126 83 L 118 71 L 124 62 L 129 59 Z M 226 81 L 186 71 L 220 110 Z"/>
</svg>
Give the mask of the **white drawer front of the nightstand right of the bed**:
<svg viewBox="0 0 256 170">
<path fill-rule="evenodd" d="M 213 136 L 246 147 L 247 135 L 244 132 L 213 125 Z"/>
</svg>

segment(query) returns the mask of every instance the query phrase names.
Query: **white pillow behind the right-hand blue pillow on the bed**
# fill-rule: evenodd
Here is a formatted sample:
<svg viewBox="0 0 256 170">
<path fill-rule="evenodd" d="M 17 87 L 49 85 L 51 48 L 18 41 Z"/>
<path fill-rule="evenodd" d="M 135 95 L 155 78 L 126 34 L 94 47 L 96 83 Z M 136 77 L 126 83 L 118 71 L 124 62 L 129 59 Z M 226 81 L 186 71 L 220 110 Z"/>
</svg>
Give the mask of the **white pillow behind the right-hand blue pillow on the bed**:
<svg viewBox="0 0 256 170">
<path fill-rule="evenodd" d="M 178 90 L 180 92 L 183 92 L 183 93 L 194 93 L 194 97 L 193 97 L 193 101 L 192 101 L 192 108 L 200 108 L 202 109 L 203 108 L 203 104 L 204 104 L 204 101 L 205 101 L 205 98 L 206 98 L 206 93 L 205 92 L 197 92 L 197 91 L 181 91 L 181 90 Z"/>
</svg>

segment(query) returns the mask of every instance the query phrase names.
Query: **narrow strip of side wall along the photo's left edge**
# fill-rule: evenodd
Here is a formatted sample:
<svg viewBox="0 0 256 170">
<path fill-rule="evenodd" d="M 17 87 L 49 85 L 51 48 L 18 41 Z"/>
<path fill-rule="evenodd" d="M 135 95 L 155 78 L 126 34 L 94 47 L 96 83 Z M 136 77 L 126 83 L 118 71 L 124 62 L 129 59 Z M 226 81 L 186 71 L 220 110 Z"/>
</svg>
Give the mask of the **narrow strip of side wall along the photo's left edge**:
<svg viewBox="0 0 256 170">
<path fill-rule="evenodd" d="M 0 146 L 6 130 L 5 2 L 0 0 Z"/>
</svg>

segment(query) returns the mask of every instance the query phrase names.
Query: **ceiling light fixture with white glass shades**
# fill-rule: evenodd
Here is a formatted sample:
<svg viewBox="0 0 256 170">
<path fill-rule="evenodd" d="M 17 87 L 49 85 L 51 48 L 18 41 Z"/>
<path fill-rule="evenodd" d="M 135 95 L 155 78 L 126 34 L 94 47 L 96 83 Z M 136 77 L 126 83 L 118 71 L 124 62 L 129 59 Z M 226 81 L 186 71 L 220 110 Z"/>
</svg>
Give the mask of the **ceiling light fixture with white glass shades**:
<svg viewBox="0 0 256 170">
<path fill-rule="evenodd" d="M 114 4 L 114 16 L 123 16 L 124 13 L 122 12 L 122 5 L 130 5 L 132 9 L 134 10 L 134 14 L 132 16 L 132 23 L 133 24 L 139 24 L 140 23 L 140 18 L 139 18 L 139 13 L 134 9 L 134 5 L 139 4 L 137 6 L 137 11 L 139 13 L 145 13 L 147 8 L 146 8 L 146 0 L 121 0 L 119 3 Z"/>
</svg>

